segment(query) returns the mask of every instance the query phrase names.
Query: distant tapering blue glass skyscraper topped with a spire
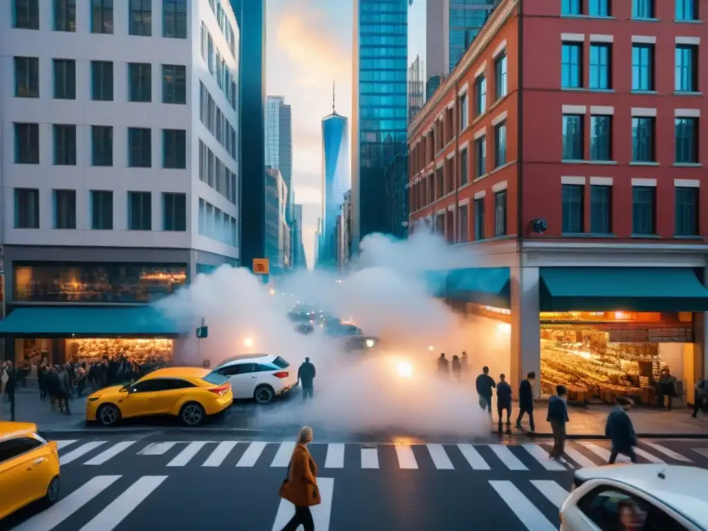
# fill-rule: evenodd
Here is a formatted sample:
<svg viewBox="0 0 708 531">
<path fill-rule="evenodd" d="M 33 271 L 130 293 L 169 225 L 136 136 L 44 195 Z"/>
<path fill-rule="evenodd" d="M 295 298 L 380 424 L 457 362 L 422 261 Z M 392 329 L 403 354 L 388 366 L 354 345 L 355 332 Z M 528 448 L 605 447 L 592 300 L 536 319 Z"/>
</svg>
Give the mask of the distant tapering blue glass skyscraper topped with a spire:
<svg viewBox="0 0 708 531">
<path fill-rule="evenodd" d="M 317 267 L 336 267 L 336 221 L 349 189 L 347 119 L 335 110 L 322 118 L 322 222 Z"/>
</svg>

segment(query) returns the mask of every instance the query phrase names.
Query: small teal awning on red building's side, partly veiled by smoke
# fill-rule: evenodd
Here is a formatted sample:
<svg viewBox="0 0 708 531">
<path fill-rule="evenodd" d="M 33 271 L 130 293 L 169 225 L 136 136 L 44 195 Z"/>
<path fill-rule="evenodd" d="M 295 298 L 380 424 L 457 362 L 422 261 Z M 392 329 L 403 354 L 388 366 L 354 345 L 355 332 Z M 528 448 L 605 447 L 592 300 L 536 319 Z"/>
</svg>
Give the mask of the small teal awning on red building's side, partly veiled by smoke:
<svg viewBox="0 0 708 531">
<path fill-rule="evenodd" d="M 445 297 L 510 308 L 509 268 L 455 269 L 447 275 Z"/>
</svg>

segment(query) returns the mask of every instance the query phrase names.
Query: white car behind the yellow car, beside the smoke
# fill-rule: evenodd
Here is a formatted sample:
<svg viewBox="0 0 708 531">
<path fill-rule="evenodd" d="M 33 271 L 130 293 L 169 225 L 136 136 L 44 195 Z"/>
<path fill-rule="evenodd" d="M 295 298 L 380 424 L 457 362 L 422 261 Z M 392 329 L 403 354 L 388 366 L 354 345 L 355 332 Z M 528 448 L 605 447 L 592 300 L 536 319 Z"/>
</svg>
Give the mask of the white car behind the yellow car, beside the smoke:
<svg viewBox="0 0 708 531">
<path fill-rule="evenodd" d="M 213 372 L 229 379 L 234 399 L 268 404 L 275 396 L 297 387 L 297 369 L 280 356 L 249 354 L 227 358 Z"/>
</svg>

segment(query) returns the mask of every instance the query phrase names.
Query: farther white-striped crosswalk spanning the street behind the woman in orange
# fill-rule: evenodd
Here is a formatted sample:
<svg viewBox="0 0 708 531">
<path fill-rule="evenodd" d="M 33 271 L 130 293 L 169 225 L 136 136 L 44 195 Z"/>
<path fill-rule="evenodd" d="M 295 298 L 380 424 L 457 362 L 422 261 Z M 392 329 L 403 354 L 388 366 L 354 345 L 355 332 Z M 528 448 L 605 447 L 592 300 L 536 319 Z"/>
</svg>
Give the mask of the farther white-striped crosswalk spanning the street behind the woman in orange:
<svg viewBox="0 0 708 531">
<path fill-rule="evenodd" d="M 125 440 L 59 440 L 59 462 L 62 465 L 98 466 L 121 458 L 139 459 L 140 464 L 158 464 L 167 468 L 181 467 L 272 467 L 285 468 L 295 442 L 263 441 L 159 441 Z M 564 472 L 606 464 L 610 448 L 604 441 L 571 441 L 566 443 L 566 457 L 549 459 L 551 445 L 538 444 L 416 444 L 356 445 L 314 443 L 310 451 L 324 469 L 418 469 L 496 470 L 516 472 L 542 470 Z M 705 452 L 705 453 L 704 453 Z M 642 441 L 636 447 L 640 462 L 698 464 L 708 467 L 708 450 L 690 449 L 690 455 L 677 452 L 659 442 Z M 153 462 L 150 460 L 159 459 Z M 618 461 L 627 460 L 620 456 Z M 149 462 L 148 462 L 149 461 Z"/>
</svg>

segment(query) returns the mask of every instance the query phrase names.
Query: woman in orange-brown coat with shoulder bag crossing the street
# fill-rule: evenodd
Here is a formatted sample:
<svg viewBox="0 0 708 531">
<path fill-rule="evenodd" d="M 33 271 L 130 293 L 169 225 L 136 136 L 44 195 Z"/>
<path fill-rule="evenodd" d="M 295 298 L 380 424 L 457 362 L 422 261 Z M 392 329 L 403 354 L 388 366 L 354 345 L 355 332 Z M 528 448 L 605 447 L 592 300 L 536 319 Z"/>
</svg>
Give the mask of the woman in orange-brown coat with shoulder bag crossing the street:
<svg viewBox="0 0 708 531">
<path fill-rule="evenodd" d="M 297 445 L 292 450 L 287 476 L 280 486 L 280 498 L 295 506 L 295 515 L 282 531 L 295 531 L 302 525 L 304 531 L 314 531 L 310 507 L 320 503 L 317 487 L 317 465 L 307 445 L 312 442 L 312 428 L 303 426 L 297 435 Z"/>
</svg>

